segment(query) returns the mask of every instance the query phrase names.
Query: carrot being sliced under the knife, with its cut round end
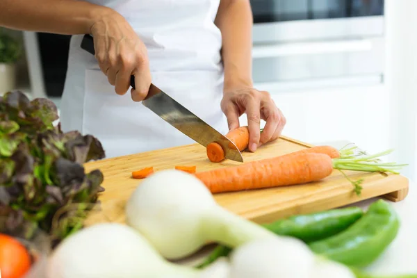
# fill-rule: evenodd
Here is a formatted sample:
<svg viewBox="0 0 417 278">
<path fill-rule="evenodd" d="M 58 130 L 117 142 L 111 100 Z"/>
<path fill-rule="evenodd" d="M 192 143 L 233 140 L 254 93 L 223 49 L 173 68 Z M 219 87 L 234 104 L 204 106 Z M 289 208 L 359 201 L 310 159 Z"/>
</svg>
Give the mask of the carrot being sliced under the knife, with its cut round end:
<svg viewBox="0 0 417 278">
<path fill-rule="evenodd" d="M 229 133 L 226 134 L 226 137 L 231 140 L 231 142 L 234 142 L 234 145 L 236 145 L 241 152 L 246 149 L 249 144 L 249 129 L 247 129 L 247 126 L 240 126 L 237 129 L 229 131 Z M 207 157 L 211 162 L 220 162 L 225 158 L 224 149 L 217 142 L 208 144 L 206 152 Z"/>
</svg>

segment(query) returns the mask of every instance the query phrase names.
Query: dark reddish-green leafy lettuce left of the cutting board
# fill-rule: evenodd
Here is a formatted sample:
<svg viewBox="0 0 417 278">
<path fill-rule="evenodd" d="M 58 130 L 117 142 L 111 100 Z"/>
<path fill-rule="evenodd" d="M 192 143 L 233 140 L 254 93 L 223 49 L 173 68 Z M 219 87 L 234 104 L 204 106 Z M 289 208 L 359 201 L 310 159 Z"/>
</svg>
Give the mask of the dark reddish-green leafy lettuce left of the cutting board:
<svg viewBox="0 0 417 278">
<path fill-rule="evenodd" d="M 54 244 L 81 229 L 96 204 L 103 174 L 85 173 L 83 163 L 105 157 L 99 140 L 63 133 L 55 120 L 49 99 L 0 97 L 0 224 L 26 239 L 40 228 Z"/>
</svg>

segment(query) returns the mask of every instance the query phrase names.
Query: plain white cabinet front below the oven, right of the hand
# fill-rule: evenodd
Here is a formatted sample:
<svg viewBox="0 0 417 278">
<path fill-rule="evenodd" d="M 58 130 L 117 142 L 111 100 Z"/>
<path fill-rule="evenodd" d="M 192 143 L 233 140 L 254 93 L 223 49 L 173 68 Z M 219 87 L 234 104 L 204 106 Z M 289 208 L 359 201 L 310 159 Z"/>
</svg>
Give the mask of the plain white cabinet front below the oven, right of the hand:
<svg viewBox="0 0 417 278">
<path fill-rule="evenodd" d="M 269 92 L 286 116 L 285 136 L 313 144 L 348 140 L 368 152 L 391 147 L 389 95 L 384 85 Z M 247 123 L 245 117 L 241 124 Z"/>
</svg>

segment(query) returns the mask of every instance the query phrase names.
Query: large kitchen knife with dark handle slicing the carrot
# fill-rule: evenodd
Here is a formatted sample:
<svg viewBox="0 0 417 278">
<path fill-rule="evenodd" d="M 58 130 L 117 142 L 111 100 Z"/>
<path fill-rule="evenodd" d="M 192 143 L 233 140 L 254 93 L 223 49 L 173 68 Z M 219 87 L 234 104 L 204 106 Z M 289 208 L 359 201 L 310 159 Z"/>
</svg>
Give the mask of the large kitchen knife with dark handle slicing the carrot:
<svg viewBox="0 0 417 278">
<path fill-rule="evenodd" d="M 81 41 L 81 48 L 90 54 L 95 55 L 94 40 L 91 35 L 86 34 Z M 135 88 L 135 76 L 131 76 L 131 86 Z M 224 157 L 232 161 L 243 162 L 242 154 L 240 154 L 234 142 L 231 142 L 222 133 L 216 131 L 191 113 L 187 108 L 172 99 L 169 95 L 157 88 L 151 83 L 147 97 L 141 101 L 142 104 L 156 113 L 165 122 L 174 126 L 189 138 L 195 140 L 200 145 L 207 147 L 211 142 L 218 142 L 224 150 Z"/>
</svg>

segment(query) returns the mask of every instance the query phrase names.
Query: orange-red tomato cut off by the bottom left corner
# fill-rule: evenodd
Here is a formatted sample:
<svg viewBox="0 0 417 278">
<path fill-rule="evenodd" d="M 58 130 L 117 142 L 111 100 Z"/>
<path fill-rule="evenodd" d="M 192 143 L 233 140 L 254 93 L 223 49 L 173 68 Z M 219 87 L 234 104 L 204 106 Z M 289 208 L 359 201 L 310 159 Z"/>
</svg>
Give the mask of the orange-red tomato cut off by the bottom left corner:
<svg viewBox="0 0 417 278">
<path fill-rule="evenodd" d="M 21 278 L 31 268 L 26 247 L 11 236 L 0 234 L 0 277 Z"/>
</svg>

